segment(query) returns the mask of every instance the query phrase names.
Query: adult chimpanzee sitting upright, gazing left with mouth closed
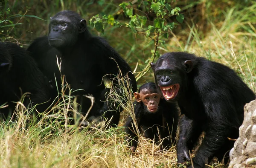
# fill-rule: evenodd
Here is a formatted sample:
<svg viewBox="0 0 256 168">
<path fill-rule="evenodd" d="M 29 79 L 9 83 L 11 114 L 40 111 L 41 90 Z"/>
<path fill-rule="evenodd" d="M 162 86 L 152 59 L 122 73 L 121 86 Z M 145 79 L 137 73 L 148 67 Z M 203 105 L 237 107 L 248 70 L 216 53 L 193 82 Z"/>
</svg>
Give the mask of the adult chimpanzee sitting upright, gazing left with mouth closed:
<svg viewBox="0 0 256 168">
<path fill-rule="evenodd" d="M 57 86 L 61 88 L 60 73 L 56 64 L 61 59 L 61 74 L 78 96 L 77 102 L 81 105 L 80 111 L 86 114 L 91 101 L 83 95 L 91 94 L 95 98 L 94 106 L 88 117 L 104 116 L 111 119 L 112 126 L 119 122 L 119 104 L 113 100 L 106 100 L 109 89 L 102 84 L 102 78 L 113 80 L 119 75 L 130 78 L 132 90 L 137 88 L 136 80 L 126 61 L 113 49 L 108 42 L 90 34 L 86 20 L 72 11 L 61 11 L 51 17 L 48 37 L 36 39 L 27 49 L 38 63 L 38 67 L 51 82 L 52 97 L 58 95 Z M 55 78 L 57 86 L 55 84 Z M 116 85 L 116 81 L 112 81 Z M 82 89 L 82 90 L 80 90 Z M 117 94 L 122 94 L 120 87 Z M 107 94 L 105 94 L 107 93 Z M 100 99 L 100 97 L 104 97 Z M 95 105 L 96 104 L 96 105 Z"/>
</svg>

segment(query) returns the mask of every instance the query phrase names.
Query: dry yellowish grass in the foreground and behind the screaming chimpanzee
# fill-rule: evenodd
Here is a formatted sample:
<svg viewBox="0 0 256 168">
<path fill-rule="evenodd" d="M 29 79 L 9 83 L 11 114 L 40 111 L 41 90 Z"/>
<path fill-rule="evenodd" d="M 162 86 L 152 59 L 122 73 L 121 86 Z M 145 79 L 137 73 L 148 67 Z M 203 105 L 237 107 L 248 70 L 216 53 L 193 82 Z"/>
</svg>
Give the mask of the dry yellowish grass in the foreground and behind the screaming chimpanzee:
<svg viewBox="0 0 256 168">
<path fill-rule="evenodd" d="M 49 7 L 45 0 L 40 2 Z M 75 5 L 71 1 L 68 2 L 72 4 L 72 9 L 75 9 Z M 173 33 L 172 38 L 164 46 L 160 46 L 160 53 L 193 52 L 198 56 L 225 64 L 236 70 L 256 92 L 256 3 L 252 2 L 251 6 L 245 6 L 243 9 L 239 9 L 239 4 L 232 3 L 233 7 L 221 8 L 224 12 L 217 8 L 217 3 L 214 4 L 215 9 L 204 3 L 205 1 L 199 7 L 204 9 L 201 10 L 204 14 L 201 14 L 205 16 L 203 19 L 204 23 L 207 23 L 207 31 L 202 32 L 204 23 L 186 22 L 187 28 L 177 34 Z M 33 10 L 39 7 L 35 6 Z M 82 11 L 81 8 L 78 10 Z M 47 16 L 56 12 L 57 9 L 54 9 L 51 13 L 47 13 Z M 221 13 L 223 16 L 218 21 L 213 19 L 216 14 Z M 194 18 L 197 16 L 195 15 Z M 47 26 L 42 26 L 44 29 L 42 31 L 46 34 L 45 27 Z M 138 63 L 137 71 L 140 71 L 140 65 L 145 64 L 145 60 L 150 56 L 152 45 L 149 40 L 140 35 L 134 37 L 128 34 L 126 29 L 115 31 L 108 28 L 105 36 L 124 55 L 131 67 L 135 68 Z M 141 78 L 138 85 L 149 81 L 154 81 L 152 71 Z M 120 82 L 122 83 L 122 80 Z M 128 151 L 122 125 L 126 116 L 133 114 L 133 107 L 129 88 L 125 90 L 128 99 L 125 100 L 126 104 L 122 104 L 125 111 L 122 112 L 117 128 L 106 130 L 90 127 L 80 131 L 70 126 L 67 111 L 70 107 L 74 107 L 72 110 L 76 112 L 71 96 L 60 96 L 60 103 L 55 105 L 51 113 L 42 114 L 39 122 L 24 114 L 26 111 L 21 111 L 16 122 L 1 123 L 1 167 L 177 168 L 175 146 L 169 151 L 159 151 L 154 142 L 140 137 L 137 151 L 135 153 Z M 117 101 L 122 102 L 123 99 L 117 98 Z M 224 168 L 218 162 L 213 162 L 210 167 Z"/>
</svg>

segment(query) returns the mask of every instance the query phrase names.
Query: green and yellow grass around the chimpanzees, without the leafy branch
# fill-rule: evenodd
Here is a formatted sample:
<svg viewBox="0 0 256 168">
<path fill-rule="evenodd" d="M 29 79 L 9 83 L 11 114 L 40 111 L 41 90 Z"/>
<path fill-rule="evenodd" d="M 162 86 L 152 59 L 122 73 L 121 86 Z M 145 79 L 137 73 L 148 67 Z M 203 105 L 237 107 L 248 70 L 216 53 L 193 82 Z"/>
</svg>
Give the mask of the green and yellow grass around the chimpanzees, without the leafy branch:
<svg viewBox="0 0 256 168">
<path fill-rule="evenodd" d="M 14 0 L 9 0 L 12 6 Z M 89 20 L 94 14 L 115 13 L 122 1 L 49 0 L 16 2 L 13 14 L 35 15 L 45 20 L 61 9 L 79 12 Z M 225 0 L 194 1 L 177 6 L 186 9 L 190 18 L 185 18 L 182 26 L 172 32 L 169 41 L 159 47 L 161 54 L 170 51 L 186 51 L 209 60 L 220 62 L 235 70 L 246 84 L 256 92 L 256 3 L 250 5 Z M 195 7 L 195 5 L 197 5 Z M 242 7 L 240 7 L 242 6 Z M 30 9 L 29 9 L 29 8 Z M 194 7 L 194 8 L 193 8 Z M 26 9 L 29 9 L 26 12 Z M 2 10 L 2 9 L 1 9 Z M 24 47 L 34 38 L 47 35 L 48 22 L 34 17 L 23 17 L 14 23 L 17 25 L 10 35 Z M 123 22 L 127 20 L 123 20 Z M 1 29 L 1 28 L 0 28 Z M 1 39 L 6 38 L 6 29 L 1 29 Z M 95 30 L 91 30 L 98 34 Z M 5 34 L 5 35 L 3 35 Z M 145 60 L 151 56 L 154 44 L 143 35 L 134 35 L 129 29 L 108 26 L 105 34 L 98 34 L 108 39 L 113 47 L 121 53 L 134 70 L 135 75 L 145 67 Z M 15 41 L 12 38 L 6 40 Z M 154 81 L 150 70 L 138 85 Z M 68 98 L 68 97 L 65 97 Z M 122 113 L 119 126 L 105 130 L 103 128 L 84 128 L 70 130 L 62 111 L 70 104 L 58 104 L 55 115 L 44 114 L 40 122 L 33 122 L 31 116 L 20 114 L 14 123 L 0 124 L 0 165 L 4 168 L 166 168 L 177 167 L 175 146 L 169 151 L 161 152 L 148 139 L 140 138 L 136 153 L 128 151 L 122 125 L 128 113 L 132 113 L 131 98 Z M 57 113 L 58 112 L 58 113 Z M 61 124 L 60 120 L 65 124 Z M 30 122 L 28 122 L 30 121 Z M 29 124 L 28 124 L 29 123 Z M 224 167 L 218 162 L 213 168 Z"/>
</svg>

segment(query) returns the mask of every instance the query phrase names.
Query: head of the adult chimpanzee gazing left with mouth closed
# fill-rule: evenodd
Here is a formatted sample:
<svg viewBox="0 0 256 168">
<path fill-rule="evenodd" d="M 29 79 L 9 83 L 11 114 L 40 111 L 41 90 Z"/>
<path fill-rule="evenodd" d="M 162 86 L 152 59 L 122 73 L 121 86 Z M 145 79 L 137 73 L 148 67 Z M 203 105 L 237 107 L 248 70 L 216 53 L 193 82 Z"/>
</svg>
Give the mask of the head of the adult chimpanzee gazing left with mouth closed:
<svg viewBox="0 0 256 168">
<path fill-rule="evenodd" d="M 79 33 L 86 29 L 86 21 L 80 22 L 68 16 L 58 15 L 51 18 L 49 24 L 49 44 L 55 48 L 64 48 L 76 44 Z"/>
</svg>

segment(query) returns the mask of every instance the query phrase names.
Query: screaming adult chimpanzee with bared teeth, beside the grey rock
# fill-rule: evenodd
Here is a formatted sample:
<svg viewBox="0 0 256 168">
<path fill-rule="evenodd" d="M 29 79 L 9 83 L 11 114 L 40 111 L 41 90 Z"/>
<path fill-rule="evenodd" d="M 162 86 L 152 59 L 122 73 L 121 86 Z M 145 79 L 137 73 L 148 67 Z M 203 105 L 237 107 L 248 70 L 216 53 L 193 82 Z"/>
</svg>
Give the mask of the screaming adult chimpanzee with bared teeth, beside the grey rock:
<svg viewBox="0 0 256 168">
<path fill-rule="evenodd" d="M 239 136 L 244 105 L 255 94 L 222 64 L 186 52 L 169 52 L 151 63 L 155 82 L 166 101 L 177 101 L 183 114 L 177 142 L 178 162 L 189 161 L 189 150 L 195 147 L 204 131 L 204 139 L 193 158 L 194 168 L 217 156 L 228 161 L 228 150 Z M 189 166 L 191 168 L 192 165 Z"/>
</svg>

